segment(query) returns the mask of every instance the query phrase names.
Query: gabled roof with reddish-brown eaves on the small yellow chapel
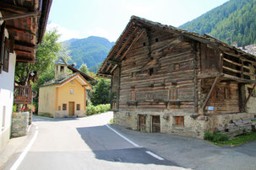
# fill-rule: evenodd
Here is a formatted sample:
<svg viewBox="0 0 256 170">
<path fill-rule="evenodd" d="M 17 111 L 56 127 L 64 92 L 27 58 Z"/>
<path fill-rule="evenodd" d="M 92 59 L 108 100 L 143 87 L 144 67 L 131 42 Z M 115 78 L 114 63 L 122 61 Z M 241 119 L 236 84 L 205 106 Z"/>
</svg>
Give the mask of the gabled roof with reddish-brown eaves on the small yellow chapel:
<svg viewBox="0 0 256 170">
<path fill-rule="evenodd" d="M 63 79 L 60 80 L 55 80 L 55 78 L 53 78 L 52 80 L 45 82 L 44 84 L 41 85 L 41 87 L 45 87 L 45 86 L 52 86 L 52 85 L 57 85 L 57 86 L 63 86 L 64 83 L 70 82 L 71 80 L 73 80 L 74 78 L 78 77 L 80 79 L 80 83 L 82 85 L 87 85 L 91 88 L 91 85 L 89 82 L 87 82 L 84 77 L 82 77 L 78 72 L 75 72 L 73 74 L 68 75 L 67 77 L 64 77 Z"/>
</svg>

